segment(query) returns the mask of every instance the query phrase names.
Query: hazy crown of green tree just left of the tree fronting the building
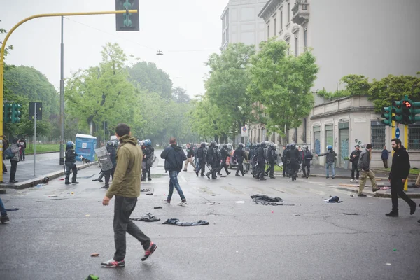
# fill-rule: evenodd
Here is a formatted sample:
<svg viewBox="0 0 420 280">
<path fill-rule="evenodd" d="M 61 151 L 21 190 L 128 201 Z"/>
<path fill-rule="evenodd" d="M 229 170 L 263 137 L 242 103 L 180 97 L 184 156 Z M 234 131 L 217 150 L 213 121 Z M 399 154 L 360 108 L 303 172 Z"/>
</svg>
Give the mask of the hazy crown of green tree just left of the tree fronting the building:
<svg viewBox="0 0 420 280">
<path fill-rule="evenodd" d="M 207 98 L 217 106 L 224 122 L 231 124 L 224 133 L 231 132 L 233 137 L 253 116 L 252 101 L 246 90 L 250 83 L 246 68 L 254 54 L 254 45 L 232 43 L 221 55 L 211 55 L 206 63 L 210 67 L 205 81 Z"/>
</svg>

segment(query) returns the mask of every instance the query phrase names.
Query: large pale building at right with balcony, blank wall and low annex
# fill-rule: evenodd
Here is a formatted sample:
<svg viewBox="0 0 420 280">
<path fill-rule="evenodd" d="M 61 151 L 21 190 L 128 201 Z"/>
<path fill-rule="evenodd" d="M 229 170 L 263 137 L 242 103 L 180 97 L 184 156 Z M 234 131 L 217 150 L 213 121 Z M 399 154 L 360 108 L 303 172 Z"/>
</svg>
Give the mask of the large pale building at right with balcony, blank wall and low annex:
<svg viewBox="0 0 420 280">
<path fill-rule="evenodd" d="M 314 92 L 340 89 L 339 79 L 349 74 L 370 80 L 389 74 L 415 76 L 420 71 L 419 0 L 269 0 L 258 14 L 265 22 L 265 39 L 278 36 L 299 55 L 313 49 L 319 66 Z M 367 97 L 328 101 L 316 98 L 311 115 L 302 126 L 289 131 L 289 141 L 309 144 L 316 153 L 332 144 L 339 153 L 337 165 L 351 153 L 356 139 L 372 143 L 373 166 L 381 166 L 380 151 L 391 148 L 391 128 L 380 123 Z M 403 126 L 400 126 L 403 135 Z M 250 127 L 251 141 L 265 141 L 265 127 Z M 402 138 L 402 137 L 400 137 Z M 278 136 L 275 139 L 280 143 Z M 345 140 L 347 139 L 347 140 Z M 409 150 L 413 166 L 420 152 L 420 125 L 409 127 Z M 323 158 L 320 164 L 323 165 Z"/>
</svg>

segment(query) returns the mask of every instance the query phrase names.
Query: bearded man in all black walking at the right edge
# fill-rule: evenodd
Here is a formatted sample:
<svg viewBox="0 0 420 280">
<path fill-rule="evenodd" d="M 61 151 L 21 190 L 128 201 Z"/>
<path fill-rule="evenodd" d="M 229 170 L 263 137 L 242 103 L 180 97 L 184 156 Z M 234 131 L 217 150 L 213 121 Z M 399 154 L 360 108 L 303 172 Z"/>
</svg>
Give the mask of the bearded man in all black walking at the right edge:
<svg viewBox="0 0 420 280">
<path fill-rule="evenodd" d="M 394 138 L 391 140 L 394 151 L 392 157 L 391 172 L 389 172 L 388 181 L 391 183 L 391 202 L 392 210 L 386 214 L 388 217 L 398 217 L 398 195 L 409 205 L 409 214 L 416 211 L 416 203 L 404 193 L 404 183 L 409 174 L 409 155 L 407 149 L 402 146 L 401 140 Z M 385 149 L 385 147 L 384 147 Z"/>
</svg>

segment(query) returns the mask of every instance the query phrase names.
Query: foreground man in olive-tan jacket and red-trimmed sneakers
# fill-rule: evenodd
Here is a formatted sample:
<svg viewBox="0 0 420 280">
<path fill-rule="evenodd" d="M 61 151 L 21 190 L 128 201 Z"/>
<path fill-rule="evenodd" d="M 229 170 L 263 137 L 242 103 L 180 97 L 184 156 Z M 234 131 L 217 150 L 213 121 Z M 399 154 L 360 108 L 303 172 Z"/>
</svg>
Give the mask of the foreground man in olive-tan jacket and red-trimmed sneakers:
<svg viewBox="0 0 420 280">
<path fill-rule="evenodd" d="M 116 137 L 120 139 L 116 171 L 112 184 L 102 201 L 102 204 L 106 206 L 114 195 L 116 197 L 113 218 L 116 253 L 111 260 L 102 262 L 102 267 L 125 266 L 126 232 L 139 240 L 143 246 L 145 253 L 141 258 L 142 261 L 149 258 L 158 247 L 130 220 L 130 215 L 136 208 L 137 197 L 140 195 L 143 153 L 137 146 L 137 139 L 131 136 L 130 127 L 125 123 L 117 125 Z"/>
</svg>

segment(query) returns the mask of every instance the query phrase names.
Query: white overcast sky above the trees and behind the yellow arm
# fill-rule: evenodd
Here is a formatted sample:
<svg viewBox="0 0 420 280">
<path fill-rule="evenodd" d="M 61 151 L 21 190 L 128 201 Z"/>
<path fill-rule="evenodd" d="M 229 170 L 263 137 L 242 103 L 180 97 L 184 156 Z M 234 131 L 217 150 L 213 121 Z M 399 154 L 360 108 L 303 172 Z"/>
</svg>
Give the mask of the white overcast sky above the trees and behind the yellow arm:
<svg viewBox="0 0 420 280">
<path fill-rule="evenodd" d="M 140 31 L 116 32 L 115 15 L 64 19 L 64 78 L 97 65 L 102 45 L 119 43 L 127 55 L 155 62 L 175 86 L 204 94 L 204 62 L 221 47 L 221 14 L 228 0 L 140 0 Z M 38 13 L 115 10 L 115 0 L 0 0 L 0 27 Z M 38 18 L 13 32 L 8 64 L 34 66 L 59 88 L 60 18 Z M 0 40 L 2 40 L 0 38 Z M 156 51 L 162 50 L 163 56 Z"/>
</svg>

